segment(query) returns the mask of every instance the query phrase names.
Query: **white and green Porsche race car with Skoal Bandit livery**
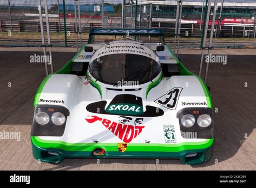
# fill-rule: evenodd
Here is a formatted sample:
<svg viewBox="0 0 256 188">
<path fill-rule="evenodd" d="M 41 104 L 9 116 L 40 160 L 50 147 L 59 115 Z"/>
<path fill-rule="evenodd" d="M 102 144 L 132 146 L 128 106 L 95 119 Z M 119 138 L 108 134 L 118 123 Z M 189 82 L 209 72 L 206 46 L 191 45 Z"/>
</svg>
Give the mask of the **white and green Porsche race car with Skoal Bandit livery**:
<svg viewBox="0 0 256 188">
<path fill-rule="evenodd" d="M 177 158 L 200 164 L 212 156 L 207 86 L 165 44 L 161 29 L 91 29 L 77 55 L 43 80 L 34 110 L 32 152 L 42 162 Z"/>
</svg>

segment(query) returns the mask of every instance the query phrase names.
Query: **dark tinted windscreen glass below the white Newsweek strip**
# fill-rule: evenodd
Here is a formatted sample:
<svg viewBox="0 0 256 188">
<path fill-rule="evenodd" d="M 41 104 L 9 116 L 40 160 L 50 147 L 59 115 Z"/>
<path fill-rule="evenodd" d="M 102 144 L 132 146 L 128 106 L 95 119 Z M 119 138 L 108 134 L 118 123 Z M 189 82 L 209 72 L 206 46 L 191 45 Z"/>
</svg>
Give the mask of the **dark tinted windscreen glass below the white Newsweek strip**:
<svg viewBox="0 0 256 188">
<path fill-rule="evenodd" d="M 161 71 L 154 59 L 132 53 L 114 53 L 94 59 L 89 72 L 104 84 L 117 84 L 123 81 L 137 81 L 139 84 L 154 79 Z"/>
</svg>

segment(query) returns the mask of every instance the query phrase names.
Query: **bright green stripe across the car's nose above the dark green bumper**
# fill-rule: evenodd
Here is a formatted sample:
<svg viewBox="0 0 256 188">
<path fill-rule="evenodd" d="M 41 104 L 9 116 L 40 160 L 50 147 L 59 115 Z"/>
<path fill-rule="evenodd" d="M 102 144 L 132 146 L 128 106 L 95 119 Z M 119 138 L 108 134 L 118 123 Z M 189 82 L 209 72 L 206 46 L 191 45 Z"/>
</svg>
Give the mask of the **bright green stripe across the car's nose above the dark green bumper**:
<svg viewBox="0 0 256 188">
<path fill-rule="evenodd" d="M 213 144 L 212 139 L 206 139 L 203 142 L 183 142 L 179 144 L 127 144 L 126 151 L 144 151 L 144 152 L 180 152 L 183 150 L 205 149 Z M 116 151 L 117 143 L 67 143 L 60 140 L 43 140 L 31 136 L 31 141 L 38 147 L 49 149 L 61 149 L 64 151 L 94 151 L 102 147 L 106 151 Z"/>
</svg>

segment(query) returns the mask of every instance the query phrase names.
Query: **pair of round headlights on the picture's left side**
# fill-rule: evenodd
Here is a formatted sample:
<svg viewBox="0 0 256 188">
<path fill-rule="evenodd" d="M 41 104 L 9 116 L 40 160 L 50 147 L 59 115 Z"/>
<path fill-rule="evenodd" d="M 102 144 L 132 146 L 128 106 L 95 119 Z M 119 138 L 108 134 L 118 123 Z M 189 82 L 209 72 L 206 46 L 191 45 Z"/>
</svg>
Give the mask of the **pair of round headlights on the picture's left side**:
<svg viewBox="0 0 256 188">
<path fill-rule="evenodd" d="M 40 125 L 48 124 L 50 117 L 45 112 L 38 112 L 35 116 L 35 120 Z M 55 125 L 63 125 L 65 123 L 65 116 L 61 112 L 55 112 L 51 115 L 51 122 Z"/>
</svg>

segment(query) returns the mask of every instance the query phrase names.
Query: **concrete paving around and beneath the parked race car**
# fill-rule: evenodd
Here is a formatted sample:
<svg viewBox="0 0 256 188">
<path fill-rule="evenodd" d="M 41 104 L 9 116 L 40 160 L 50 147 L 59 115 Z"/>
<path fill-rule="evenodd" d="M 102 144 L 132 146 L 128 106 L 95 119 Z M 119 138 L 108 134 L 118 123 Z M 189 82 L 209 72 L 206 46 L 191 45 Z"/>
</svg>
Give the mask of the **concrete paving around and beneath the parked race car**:
<svg viewBox="0 0 256 188">
<path fill-rule="evenodd" d="M 40 52 L 37 52 L 37 51 Z M 30 129 L 35 93 L 45 77 L 44 65 L 30 63 L 42 49 L 0 48 L 0 132 L 21 132 L 21 140 L 0 139 L 0 170 L 256 170 L 256 50 L 218 50 L 227 64 L 211 63 L 215 144 L 213 157 L 200 165 L 160 159 L 65 159 L 61 164 L 38 162 L 32 157 Z M 54 49 L 54 69 L 60 69 L 76 49 Z M 181 50 L 181 61 L 197 73 L 200 50 Z M 204 69 L 203 69 L 204 70 Z M 247 87 L 246 87 L 247 83 Z"/>
</svg>

